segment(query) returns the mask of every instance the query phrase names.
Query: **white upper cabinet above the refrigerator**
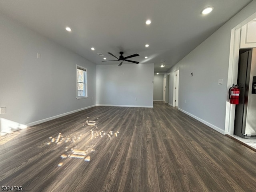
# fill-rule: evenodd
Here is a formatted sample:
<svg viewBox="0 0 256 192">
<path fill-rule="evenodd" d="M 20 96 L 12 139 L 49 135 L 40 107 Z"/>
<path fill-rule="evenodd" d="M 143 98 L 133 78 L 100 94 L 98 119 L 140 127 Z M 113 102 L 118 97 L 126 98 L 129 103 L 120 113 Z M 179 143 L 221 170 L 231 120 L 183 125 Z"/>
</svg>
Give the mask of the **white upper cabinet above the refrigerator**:
<svg viewBox="0 0 256 192">
<path fill-rule="evenodd" d="M 240 48 L 256 47 L 256 18 L 241 28 Z"/>
</svg>

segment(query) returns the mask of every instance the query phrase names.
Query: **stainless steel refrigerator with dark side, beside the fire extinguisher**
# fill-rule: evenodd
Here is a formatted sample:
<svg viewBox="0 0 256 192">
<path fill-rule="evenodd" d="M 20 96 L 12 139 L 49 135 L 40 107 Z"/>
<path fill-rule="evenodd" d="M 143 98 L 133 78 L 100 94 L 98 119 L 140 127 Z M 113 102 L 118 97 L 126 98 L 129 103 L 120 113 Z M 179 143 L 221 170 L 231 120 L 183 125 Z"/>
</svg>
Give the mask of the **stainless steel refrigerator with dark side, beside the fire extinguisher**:
<svg viewBox="0 0 256 192">
<path fill-rule="evenodd" d="M 238 65 L 239 104 L 234 134 L 256 138 L 256 48 L 240 50 Z"/>
</svg>

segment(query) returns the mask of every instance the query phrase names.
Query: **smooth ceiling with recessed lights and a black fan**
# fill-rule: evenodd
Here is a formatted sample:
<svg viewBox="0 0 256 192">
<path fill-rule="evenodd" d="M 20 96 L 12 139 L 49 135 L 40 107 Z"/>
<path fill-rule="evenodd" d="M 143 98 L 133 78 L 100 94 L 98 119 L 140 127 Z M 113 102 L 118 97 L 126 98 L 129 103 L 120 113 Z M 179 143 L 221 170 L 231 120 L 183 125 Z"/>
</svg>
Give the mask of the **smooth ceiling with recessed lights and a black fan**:
<svg viewBox="0 0 256 192">
<path fill-rule="evenodd" d="M 140 55 L 129 60 L 154 63 L 155 72 L 166 72 L 251 1 L 1 0 L 0 13 L 95 64 L 118 65 L 101 62 L 97 53 L 115 60 L 108 52 L 118 57 L 123 51 L 124 57 Z M 214 6 L 213 12 L 200 14 L 207 6 Z M 166 66 L 160 68 L 163 60 Z"/>
</svg>

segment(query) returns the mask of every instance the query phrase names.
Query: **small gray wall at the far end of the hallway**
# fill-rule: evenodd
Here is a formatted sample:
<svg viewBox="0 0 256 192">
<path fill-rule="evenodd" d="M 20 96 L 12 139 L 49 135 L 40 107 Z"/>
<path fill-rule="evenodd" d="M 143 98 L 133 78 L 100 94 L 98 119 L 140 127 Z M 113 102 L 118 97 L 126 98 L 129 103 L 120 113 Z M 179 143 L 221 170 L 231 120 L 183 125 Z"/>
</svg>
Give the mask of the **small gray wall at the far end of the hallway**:
<svg viewBox="0 0 256 192">
<path fill-rule="evenodd" d="M 154 95 L 153 100 L 163 100 L 164 74 L 154 74 Z"/>
</svg>

